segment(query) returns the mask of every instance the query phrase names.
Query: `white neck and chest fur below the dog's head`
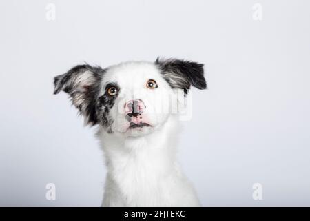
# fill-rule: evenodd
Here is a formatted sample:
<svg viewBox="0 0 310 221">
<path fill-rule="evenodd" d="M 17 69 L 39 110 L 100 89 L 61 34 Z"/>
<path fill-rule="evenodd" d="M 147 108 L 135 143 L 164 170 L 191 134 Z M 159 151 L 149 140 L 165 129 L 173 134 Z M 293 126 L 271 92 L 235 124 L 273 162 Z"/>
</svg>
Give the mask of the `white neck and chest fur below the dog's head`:
<svg viewBox="0 0 310 221">
<path fill-rule="evenodd" d="M 200 205 L 176 161 L 176 119 L 143 137 L 101 133 L 107 164 L 103 206 Z"/>
</svg>

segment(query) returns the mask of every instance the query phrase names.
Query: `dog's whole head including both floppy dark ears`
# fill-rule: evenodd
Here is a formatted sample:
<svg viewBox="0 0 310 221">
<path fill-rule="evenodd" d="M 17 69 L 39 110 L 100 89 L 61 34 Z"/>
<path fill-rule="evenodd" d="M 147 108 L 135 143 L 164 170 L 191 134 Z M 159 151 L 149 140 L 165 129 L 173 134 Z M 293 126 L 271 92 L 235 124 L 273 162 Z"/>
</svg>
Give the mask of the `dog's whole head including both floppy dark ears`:
<svg viewBox="0 0 310 221">
<path fill-rule="evenodd" d="M 132 61 L 105 69 L 75 66 L 55 77 L 54 84 L 54 93 L 68 93 L 87 124 L 125 137 L 152 133 L 176 113 L 180 95 L 190 86 L 206 88 L 203 64 L 176 59 Z"/>
</svg>

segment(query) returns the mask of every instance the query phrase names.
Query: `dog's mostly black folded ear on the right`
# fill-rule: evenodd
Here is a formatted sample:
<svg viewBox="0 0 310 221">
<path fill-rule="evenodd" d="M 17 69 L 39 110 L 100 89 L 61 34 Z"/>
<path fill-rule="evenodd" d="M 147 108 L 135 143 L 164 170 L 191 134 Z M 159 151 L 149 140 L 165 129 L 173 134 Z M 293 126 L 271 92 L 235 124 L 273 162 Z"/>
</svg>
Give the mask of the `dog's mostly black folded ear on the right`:
<svg viewBox="0 0 310 221">
<path fill-rule="evenodd" d="M 207 88 L 203 76 L 203 64 L 180 59 L 160 59 L 159 57 L 155 64 L 172 88 L 183 89 L 185 93 L 191 86 L 198 89 Z"/>
</svg>

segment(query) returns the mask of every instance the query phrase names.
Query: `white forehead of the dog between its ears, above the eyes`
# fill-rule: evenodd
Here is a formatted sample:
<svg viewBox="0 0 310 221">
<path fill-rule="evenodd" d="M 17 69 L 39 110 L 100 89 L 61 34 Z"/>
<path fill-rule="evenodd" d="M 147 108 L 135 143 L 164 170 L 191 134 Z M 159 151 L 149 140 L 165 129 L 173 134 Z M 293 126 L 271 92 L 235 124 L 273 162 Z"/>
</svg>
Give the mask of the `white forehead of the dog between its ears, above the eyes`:
<svg viewBox="0 0 310 221">
<path fill-rule="evenodd" d="M 127 61 L 107 68 L 103 77 L 103 84 L 116 82 L 119 85 L 132 82 L 144 82 L 146 79 L 158 79 L 160 70 L 154 63 L 147 61 Z"/>
</svg>

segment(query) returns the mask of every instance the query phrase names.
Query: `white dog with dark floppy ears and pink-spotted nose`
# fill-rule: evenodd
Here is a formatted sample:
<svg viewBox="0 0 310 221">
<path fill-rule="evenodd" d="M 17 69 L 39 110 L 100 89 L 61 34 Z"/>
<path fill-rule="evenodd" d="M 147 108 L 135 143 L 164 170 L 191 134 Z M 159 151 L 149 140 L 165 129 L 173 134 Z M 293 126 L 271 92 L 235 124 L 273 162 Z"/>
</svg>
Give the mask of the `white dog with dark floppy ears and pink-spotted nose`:
<svg viewBox="0 0 310 221">
<path fill-rule="evenodd" d="M 54 77 L 54 94 L 68 93 L 85 124 L 98 126 L 107 166 L 102 206 L 200 206 L 176 160 L 192 86 L 207 87 L 203 64 L 182 59 L 82 64 Z"/>
</svg>

